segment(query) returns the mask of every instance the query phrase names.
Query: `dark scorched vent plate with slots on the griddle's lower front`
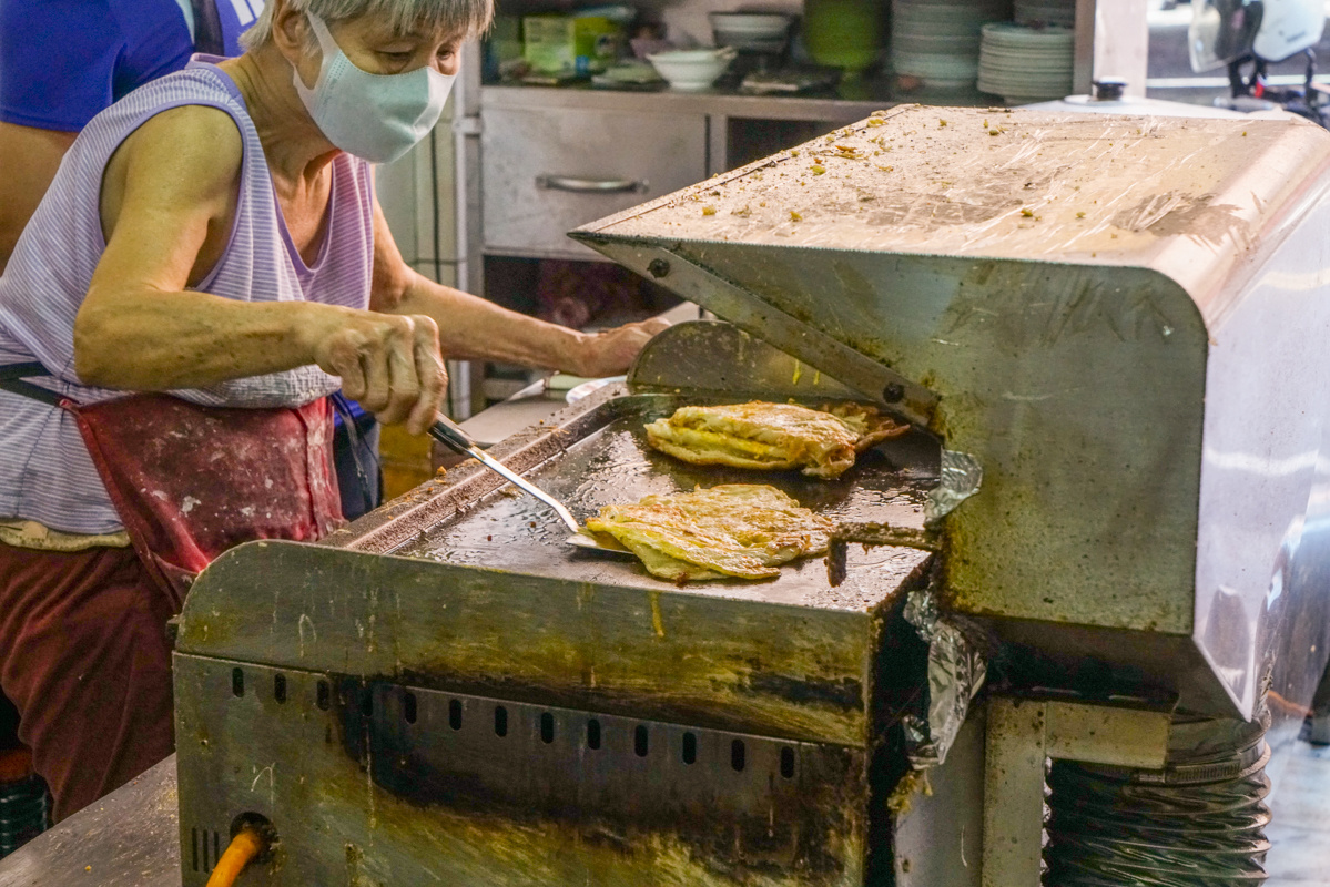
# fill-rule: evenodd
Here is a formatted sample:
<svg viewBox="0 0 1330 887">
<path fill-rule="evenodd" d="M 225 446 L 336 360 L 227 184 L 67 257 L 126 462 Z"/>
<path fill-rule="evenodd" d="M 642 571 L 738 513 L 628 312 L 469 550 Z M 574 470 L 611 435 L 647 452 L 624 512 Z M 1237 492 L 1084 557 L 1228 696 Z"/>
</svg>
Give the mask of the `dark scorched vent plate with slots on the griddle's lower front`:
<svg viewBox="0 0 1330 887">
<path fill-rule="evenodd" d="M 509 699 L 391 684 L 368 692 L 371 714 L 343 710 L 350 734 L 367 738 L 374 781 L 418 803 L 579 818 L 774 815 L 775 840 L 781 819 L 793 840 L 807 802 L 801 781 L 847 759 L 829 746 Z"/>
</svg>

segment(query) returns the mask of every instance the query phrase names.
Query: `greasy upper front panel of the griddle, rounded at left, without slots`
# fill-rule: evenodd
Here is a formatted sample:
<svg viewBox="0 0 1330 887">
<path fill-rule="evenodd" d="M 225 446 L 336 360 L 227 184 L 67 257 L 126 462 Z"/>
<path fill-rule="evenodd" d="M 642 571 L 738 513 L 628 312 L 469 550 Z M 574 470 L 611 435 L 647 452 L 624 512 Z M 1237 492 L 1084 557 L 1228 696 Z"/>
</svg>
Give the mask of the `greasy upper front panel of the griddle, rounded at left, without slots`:
<svg viewBox="0 0 1330 887">
<path fill-rule="evenodd" d="M 258 543 L 194 585 L 177 650 L 863 746 L 907 670 L 879 660 L 894 593 L 818 608 Z"/>
</svg>

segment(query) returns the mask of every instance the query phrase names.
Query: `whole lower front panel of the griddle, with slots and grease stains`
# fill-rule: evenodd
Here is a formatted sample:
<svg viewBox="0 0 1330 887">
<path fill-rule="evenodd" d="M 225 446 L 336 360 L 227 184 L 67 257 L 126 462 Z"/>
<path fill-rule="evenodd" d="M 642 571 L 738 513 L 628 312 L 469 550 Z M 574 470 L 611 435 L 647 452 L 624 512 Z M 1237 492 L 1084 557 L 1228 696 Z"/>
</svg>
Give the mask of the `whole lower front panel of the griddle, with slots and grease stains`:
<svg viewBox="0 0 1330 887">
<path fill-rule="evenodd" d="M 861 750 L 194 656 L 174 668 L 185 887 L 242 813 L 279 843 L 241 884 L 862 879 Z"/>
</svg>

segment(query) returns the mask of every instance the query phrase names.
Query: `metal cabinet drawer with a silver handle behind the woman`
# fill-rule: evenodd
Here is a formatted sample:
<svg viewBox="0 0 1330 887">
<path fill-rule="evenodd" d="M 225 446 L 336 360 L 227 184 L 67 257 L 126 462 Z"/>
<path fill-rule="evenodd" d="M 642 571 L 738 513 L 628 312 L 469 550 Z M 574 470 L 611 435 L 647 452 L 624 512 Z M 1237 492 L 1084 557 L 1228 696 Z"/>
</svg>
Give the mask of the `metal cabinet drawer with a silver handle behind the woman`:
<svg viewBox="0 0 1330 887">
<path fill-rule="evenodd" d="M 706 178 L 706 117 L 485 109 L 485 250 L 592 258 L 568 239 L 587 222 Z"/>
</svg>

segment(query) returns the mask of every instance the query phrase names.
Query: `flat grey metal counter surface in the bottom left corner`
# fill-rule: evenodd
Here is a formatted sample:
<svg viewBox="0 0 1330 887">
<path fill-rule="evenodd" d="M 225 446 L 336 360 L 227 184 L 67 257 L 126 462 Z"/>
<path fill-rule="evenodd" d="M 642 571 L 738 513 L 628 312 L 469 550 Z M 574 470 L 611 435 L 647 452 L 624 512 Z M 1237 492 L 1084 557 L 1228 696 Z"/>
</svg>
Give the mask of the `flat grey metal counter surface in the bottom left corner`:
<svg viewBox="0 0 1330 887">
<path fill-rule="evenodd" d="M 0 859 L 0 887 L 181 887 L 176 755 Z"/>
</svg>

